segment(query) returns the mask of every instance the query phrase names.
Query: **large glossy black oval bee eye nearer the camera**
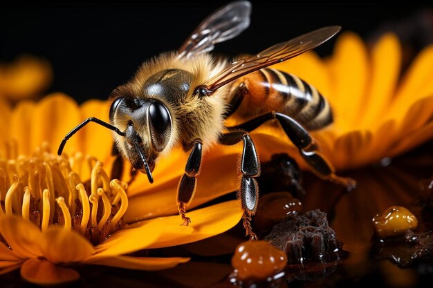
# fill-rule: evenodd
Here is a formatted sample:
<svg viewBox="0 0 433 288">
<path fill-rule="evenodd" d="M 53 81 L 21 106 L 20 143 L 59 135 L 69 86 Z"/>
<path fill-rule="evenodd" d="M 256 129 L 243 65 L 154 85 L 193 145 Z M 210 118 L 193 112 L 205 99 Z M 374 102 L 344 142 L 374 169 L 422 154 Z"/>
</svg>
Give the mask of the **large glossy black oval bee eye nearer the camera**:
<svg viewBox="0 0 433 288">
<path fill-rule="evenodd" d="M 158 101 L 149 105 L 149 130 L 156 151 L 163 151 L 172 135 L 172 117 L 167 107 Z"/>
</svg>

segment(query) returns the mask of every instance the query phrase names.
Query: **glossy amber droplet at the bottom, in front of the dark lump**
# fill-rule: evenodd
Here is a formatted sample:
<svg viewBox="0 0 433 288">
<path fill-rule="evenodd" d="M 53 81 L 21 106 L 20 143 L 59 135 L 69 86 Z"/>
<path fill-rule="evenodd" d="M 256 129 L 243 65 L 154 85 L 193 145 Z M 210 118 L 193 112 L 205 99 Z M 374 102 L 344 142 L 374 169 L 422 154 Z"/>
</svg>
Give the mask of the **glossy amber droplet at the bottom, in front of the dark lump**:
<svg viewBox="0 0 433 288">
<path fill-rule="evenodd" d="M 264 280 L 282 271 L 287 262 L 286 254 L 267 241 L 242 242 L 232 257 L 240 280 Z"/>
</svg>

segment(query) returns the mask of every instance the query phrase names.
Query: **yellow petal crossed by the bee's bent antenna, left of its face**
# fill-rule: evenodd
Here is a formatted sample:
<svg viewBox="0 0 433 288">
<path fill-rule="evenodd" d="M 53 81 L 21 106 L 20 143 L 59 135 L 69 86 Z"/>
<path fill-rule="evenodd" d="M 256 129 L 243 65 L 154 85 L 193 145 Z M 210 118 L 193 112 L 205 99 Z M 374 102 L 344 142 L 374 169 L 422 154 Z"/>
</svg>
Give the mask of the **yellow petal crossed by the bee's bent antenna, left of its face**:
<svg viewBox="0 0 433 288">
<path fill-rule="evenodd" d="M 102 121 L 109 122 L 108 102 L 100 100 L 90 100 L 80 106 L 81 120 L 89 117 L 96 117 Z M 75 125 L 80 124 L 76 123 Z M 72 127 L 71 127 L 72 128 Z M 82 142 L 82 153 L 92 155 L 102 162 L 107 162 L 107 157 L 111 155 L 113 137 L 111 130 L 104 128 L 96 123 L 89 123 L 80 130 Z"/>
</svg>

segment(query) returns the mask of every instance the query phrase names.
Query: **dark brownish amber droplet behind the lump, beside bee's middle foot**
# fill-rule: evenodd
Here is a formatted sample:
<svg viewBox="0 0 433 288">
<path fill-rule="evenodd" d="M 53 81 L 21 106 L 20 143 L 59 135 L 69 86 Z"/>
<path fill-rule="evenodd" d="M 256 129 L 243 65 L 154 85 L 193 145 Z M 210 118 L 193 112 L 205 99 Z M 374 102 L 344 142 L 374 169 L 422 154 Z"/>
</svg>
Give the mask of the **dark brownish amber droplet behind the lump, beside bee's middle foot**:
<svg viewBox="0 0 433 288">
<path fill-rule="evenodd" d="M 275 192 L 263 195 L 254 217 L 254 228 L 266 233 L 284 218 L 302 211 L 302 202 L 288 192 Z"/>
</svg>

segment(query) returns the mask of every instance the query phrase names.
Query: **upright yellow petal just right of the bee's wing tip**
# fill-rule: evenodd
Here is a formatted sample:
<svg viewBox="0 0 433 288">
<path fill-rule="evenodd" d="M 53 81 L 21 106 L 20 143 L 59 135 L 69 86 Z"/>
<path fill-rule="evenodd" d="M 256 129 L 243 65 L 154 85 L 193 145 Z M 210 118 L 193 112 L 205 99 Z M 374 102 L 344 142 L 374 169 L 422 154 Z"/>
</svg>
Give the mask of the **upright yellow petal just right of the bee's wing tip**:
<svg viewBox="0 0 433 288">
<path fill-rule="evenodd" d="M 345 32 L 338 37 L 329 71 L 333 90 L 324 96 L 335 111 L 335 128 L 344 133 L 358 124 L 369 76 L 367 48 L 358 35 Z"/>
</svg>

